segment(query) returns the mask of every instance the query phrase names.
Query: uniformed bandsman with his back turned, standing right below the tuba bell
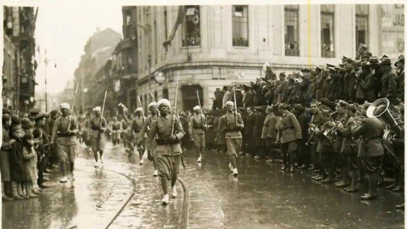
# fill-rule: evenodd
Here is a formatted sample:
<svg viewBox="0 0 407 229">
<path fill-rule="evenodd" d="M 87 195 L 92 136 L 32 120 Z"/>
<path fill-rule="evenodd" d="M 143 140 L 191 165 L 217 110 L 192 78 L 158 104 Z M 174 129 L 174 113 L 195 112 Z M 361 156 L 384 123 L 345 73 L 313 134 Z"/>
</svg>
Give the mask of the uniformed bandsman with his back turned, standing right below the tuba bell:
<svg viewBox="0 0 407 229">
<path fill-rule="evenodd" d="M 354 137 L 361 136 L 358 157 L 364 161 L 365 170 L 369 179 L 369 192 L 361 196 L 361 199 L 369 200 L 377 198 L 377 170 L 379 170 L 383 147 L 381 138 L 383 134 L 382 122 L 377 118 L 365 118 L 358 126 L 353 118 L 350 118 L 352 134 Z"/>
</svg>

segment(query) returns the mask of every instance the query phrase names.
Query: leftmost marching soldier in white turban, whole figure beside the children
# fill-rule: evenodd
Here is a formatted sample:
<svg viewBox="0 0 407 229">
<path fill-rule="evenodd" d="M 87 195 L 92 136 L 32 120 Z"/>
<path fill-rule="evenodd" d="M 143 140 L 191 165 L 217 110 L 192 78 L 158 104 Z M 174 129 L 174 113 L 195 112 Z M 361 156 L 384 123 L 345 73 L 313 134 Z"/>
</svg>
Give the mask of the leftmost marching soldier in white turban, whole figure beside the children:
<svg viewBox="0 0 407 229">
<path fill-rule="evenodd" d="M 68 103 L 62 103 L 60 106 L 62 116 L 57 118 L 52 127 L 52 134 L 50 139 L 50 145 L 56 140 L 56 149 L 58 151 L 59 159 L 61 161 L 61 171 L 63 178 L 61 183 L 68 181 L 66 177 L 65 163 L 68 161 L 70 170 L 72 173 L 72 180 L 74 180 L 73 169 L 76 159 L 76 137 L 79 133 L 78 124 L 76 119 L 70 116 L 70 105 Z"/>
</svg>

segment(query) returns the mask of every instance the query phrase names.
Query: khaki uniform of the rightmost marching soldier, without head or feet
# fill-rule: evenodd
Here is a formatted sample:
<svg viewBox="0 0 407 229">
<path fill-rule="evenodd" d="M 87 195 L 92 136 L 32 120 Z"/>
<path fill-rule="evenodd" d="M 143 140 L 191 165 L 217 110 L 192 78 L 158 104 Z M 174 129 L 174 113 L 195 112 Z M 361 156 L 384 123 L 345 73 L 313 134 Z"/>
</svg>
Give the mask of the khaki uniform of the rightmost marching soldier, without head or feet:
<svg viewBox="0 0 407 229">
<path fill-rule="evenodd" d="M 243 125 L 242 116 L 237 113 L 238 124 Z M 225 134 L 227 155 L 238 156 L 242 148 L 242 133 L 240 128 L 236 128 L 236 118 L 233 113 L 227 112 L 224 116 L 220 118 L 220 123 L 218 127 L 218 138 L 222 133 Z"/>
</svg>

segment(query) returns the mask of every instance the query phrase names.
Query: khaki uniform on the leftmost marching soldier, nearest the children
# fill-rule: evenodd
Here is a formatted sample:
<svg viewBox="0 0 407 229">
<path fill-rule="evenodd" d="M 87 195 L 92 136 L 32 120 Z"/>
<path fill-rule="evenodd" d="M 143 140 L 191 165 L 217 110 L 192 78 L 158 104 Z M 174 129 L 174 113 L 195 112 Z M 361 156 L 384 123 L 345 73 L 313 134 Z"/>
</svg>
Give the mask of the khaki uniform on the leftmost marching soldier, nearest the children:
<svg viewBox="0 0 407 229">
<path fill-rule="evenodd" d="M 72 119 L 70 130 L 74 131 L 78 129 L 78 124 L 75 118 Z M 77 148 L 76 137 L 75 135 L 66 135 L 66 132 L 68 131 L 68 124 L 69 116 L 57 118 L 52 127 L 51 141 L 56 142 L 56 150 L 62 162 L 75 162 Z"/>
</svg>

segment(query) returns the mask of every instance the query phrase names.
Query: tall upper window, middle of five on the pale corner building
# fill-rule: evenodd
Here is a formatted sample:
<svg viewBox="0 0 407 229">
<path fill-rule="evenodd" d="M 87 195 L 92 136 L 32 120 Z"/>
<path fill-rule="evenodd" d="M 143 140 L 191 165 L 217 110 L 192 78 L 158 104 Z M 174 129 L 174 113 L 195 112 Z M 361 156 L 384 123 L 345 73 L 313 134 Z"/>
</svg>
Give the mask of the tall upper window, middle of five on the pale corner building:
<svg viewBox="0 0 407 229">
<path fill-rule="evenodd" d="M 299 5 L 285 5 L 284 6 L 284 46 L 285 55 L 299 56 L 298 45 L 298 9 Z"/>
</svg>

